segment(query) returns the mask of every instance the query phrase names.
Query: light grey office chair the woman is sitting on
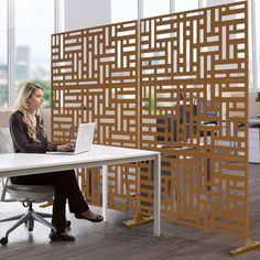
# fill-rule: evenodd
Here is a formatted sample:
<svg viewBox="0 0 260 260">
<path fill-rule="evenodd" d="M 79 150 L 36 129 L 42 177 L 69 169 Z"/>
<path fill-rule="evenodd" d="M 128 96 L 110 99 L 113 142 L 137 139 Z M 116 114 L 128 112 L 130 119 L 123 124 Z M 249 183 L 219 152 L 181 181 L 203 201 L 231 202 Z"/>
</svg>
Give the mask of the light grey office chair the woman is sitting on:
<svg viewBox="0 0 260 260">
<path fill-rule="evenodd" d="M 0 128 L 0 153 L 12 153 L 13 144 L 10 131 L 8 128 Z M 44 217 L 52 217 L 51 214 L 36 213 L 33 210 L 33 203 L 43 203 L 54 196 L 54 186 L 52 185 L 24 185 L 24 184 L 12 184 L 9 177 L 4 177 L 2 181 L 2 195 L 1 202 L 21 202 L 24 207 L 28 207 L 28 213 L 20 214 L 10 218 L 1 219 L 0 223 L 19 219 L 13 226 L 11 226 L 6 236 L 1 238 L 0 243 L 8 243 L 8 236 L 11 231 L 18 228 L 23 223 L 28 224 L 28 230 L 32 231 L 34 228 L 34 220 L 44 224 L 54 231 L 56 228 Z M 10 198 L 6 198 L 7 194 Z"/>
</svg>

